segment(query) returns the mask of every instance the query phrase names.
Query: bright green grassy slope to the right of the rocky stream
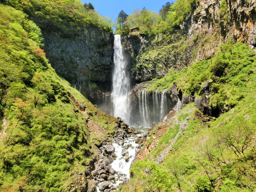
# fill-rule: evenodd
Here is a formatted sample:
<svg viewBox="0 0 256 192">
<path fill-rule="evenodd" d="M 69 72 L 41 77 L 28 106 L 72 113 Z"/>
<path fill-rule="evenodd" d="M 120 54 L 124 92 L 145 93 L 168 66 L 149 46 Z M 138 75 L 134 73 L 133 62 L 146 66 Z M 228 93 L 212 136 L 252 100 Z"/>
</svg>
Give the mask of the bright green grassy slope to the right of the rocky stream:
<svg viewBox="0 0 256 192">
<path fill-rule="evenodd" d="M 154 80 L 155 83 L 148 89 L 169 89 L 175 82 L 183 94 L 201 97 L 203 92 L 200 87 L 209 81 L 210 106 L 219 106 L 225 113 L 206 125 L 197 119 L 193 121 L 193 115 L 190 116 L 172 151 L 164 162 L 157 165 L 152 160 L 161 154 L 174 136 L 170 134 L 174 131 L 170 126 L 160 139 L 162 142 L 159 140 L 146 160 L 132 165 L 132 179 L 127 186 L 122 186 L 121 191 L 255 189 L 255 53 L 240 42 L 222 46 L 231 47 L 232 54 L 226 51 L 223 58 L 222 52 L 219 52 L 212 58 L 212 63 L 211 60 L 203 60 L 190 68 L 171 71 L 164 78 Z M 188 107 L 193 107 L 193 104 Z M 183 110 L 176 116 L 181 116 Z M 150 141 L 153 143 L 149 135 Z"/>
</svg>

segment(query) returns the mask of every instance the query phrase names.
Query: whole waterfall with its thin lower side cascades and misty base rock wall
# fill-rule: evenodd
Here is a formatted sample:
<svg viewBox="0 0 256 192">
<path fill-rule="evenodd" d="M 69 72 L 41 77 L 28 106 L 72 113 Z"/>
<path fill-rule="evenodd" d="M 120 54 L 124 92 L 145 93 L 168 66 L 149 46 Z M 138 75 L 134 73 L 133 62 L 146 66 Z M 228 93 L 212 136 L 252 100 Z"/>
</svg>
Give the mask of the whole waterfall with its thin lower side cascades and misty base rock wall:
<svg viewBox="0 0 256 192">
<path fill-rule="evenodd" d="M 102 93 L 98 107 L 108 114 L 121 117 L 135 128 L 150 128 L 161 121 L 174 107 L 166 90 L 160 92 L 141 90 L 131 92 L 129 59 L 120 35 L 114 40 L 114 71 L 112 92 Z M 169 101 L 169 102 L 168 102 Z"/>
</svg>

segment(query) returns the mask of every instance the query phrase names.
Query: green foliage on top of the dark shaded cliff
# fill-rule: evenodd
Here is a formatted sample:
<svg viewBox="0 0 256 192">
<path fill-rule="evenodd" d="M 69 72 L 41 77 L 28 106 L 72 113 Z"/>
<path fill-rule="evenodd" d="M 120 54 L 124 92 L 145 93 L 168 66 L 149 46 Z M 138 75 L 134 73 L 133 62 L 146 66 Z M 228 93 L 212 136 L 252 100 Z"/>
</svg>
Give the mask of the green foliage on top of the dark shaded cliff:
<svg viewBox="0 0 256 192">
<path fill-rule="evenodd" d="M 76 34 L 84 27 L 94 26 L 112 31 L 108 21 L 94 11 L 92 4 L 78 0 L 3 0 L 4 4 L 28 14 L 41 29 Z"/>
</svg>

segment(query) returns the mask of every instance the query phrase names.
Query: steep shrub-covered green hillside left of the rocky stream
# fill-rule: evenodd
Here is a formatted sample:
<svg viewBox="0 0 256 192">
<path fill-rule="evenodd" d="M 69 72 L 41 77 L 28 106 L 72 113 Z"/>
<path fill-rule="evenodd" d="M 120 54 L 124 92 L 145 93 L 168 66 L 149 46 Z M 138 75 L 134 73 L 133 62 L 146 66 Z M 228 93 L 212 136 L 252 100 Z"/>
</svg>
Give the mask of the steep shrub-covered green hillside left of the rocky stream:
<svg viewBox="0 0 256 192">
<path fill-rule="evenodd" d="M 113 130 L 114 117 L 57 76 L 41 45 L 36 24 L 1 4 L 0 191 L 85 190 L 94 159 L 88 119 L 102 135 Z"/>
</svg>

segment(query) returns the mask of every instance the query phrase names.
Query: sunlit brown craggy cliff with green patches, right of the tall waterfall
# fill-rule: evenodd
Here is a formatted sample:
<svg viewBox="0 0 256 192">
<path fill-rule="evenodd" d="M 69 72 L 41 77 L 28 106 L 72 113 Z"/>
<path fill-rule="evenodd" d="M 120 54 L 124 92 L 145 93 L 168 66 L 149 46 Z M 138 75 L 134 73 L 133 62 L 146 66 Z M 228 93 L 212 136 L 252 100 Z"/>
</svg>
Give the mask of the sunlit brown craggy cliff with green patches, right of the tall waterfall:
<svg viewBox="0 0 256 192">
<path fill-rule="evenodd" d="M 218 45 L 230 39 L 255 46 L 255 8 L 255 0 L 203 0 L 172 34 L 149 38 L 132 31 L 123 37 L 131 55 L 132 78 L 136 82 L 161 78 L 170 69 L 210 58 Z"/>
</svg>

